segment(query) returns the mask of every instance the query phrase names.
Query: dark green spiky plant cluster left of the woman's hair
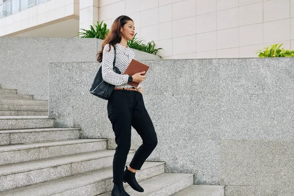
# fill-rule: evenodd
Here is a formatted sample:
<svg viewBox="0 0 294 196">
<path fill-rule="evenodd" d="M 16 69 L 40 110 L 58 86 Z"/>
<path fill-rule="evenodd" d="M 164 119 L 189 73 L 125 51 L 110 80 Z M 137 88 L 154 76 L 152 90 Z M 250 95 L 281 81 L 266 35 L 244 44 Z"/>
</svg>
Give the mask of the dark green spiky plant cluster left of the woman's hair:
<svg viewBox="0 0 294 196">
<path fill-rule="evenodd" d="M 97 22 L 97 25 L 95 25 L 96 30 L 92 25 L 90 25 L 90 30 L 84 30 L 85 32 L 78 32 L 79 38 L 98 38 L 104 40 L 107 33 L 109 32 L 109 29 L 107 29 L 107 25 L 104 23 L 102 26 L 103 21 L 99 24 Z"/>
</svg>

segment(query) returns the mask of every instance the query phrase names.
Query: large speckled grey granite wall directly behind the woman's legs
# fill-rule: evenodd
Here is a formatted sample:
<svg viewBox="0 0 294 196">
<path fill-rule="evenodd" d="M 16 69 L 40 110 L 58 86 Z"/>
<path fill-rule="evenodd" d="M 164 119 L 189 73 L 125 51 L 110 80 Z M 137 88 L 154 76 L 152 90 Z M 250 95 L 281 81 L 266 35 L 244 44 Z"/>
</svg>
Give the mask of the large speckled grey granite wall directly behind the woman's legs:
<svg viewBox="0 0 294 196">
<path fill-rule="evenodd" d="M 294 58 L 143 61 L 143 97 L 158 136 L 148 161 L 193 172 L 226 196 L 294 194 Z M 49 116 L 83 138 L 114 133 L 107 101 L 89 93 L 98 63 L 50 63 Z M 142 144 L 132 129 L 131 149 Z"/>
</svg>

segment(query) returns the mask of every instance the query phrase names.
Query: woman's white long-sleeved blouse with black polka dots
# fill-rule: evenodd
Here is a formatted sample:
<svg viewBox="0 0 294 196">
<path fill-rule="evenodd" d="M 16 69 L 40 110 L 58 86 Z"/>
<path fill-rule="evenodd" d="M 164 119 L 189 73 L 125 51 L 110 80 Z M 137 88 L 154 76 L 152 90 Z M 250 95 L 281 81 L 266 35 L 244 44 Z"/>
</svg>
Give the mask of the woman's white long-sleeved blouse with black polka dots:
<svg viewBox="0 0 294 196">
<path fill-rule="evenodd" d="M 102 78 L 105 82 L 109 84 L 115 85 L 115 88 L 131 88 L 133 86 L 129 85 L 127 83 L 129 75 L 123 74 L 131 62 L 131 60 L 134 58 L 135 53 L 127 48 L 124 48 L 123 45 L 120 43 L 116 44 L 116 60 L 115 60 L 115 66 L 121 71 L 121 74 L 115 73 L 113 71 L 113 60 L 114 60 L 114 48 L 111 46 L 110 51 L 109 45 L 106 44 L 103 48 L 103 55 L 102 55 Z M 141 83 L 138 87 L 135 87 L 139 89 L 141 86 Z"/>
</svg>

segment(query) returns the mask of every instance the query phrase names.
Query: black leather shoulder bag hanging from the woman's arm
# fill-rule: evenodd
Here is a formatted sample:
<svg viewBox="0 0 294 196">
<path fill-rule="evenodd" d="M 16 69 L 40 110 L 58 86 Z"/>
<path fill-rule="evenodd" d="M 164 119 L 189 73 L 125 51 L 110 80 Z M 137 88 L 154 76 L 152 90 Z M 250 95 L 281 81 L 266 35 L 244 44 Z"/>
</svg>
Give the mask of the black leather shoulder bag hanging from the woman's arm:
<svg viewBox="0 0 294 196">
<path fill-rule="evenodd" d="M 114 47 L 114 61 L 113 61 L 113 71 L 115 73 L 121 74 L 121 71 L 115 67 L 115 58 L 116 58 L 116 49 Z M 92 95 L 97 96 L 98 98 L 103 98 L 108 100 L 115 85 L 109 84 L 105 82 L 102 78 L 102 65 L 99 67 L 98 72 L 96 73 L 91 87 L 90 87 L 90 93 Z"/>
</svg>

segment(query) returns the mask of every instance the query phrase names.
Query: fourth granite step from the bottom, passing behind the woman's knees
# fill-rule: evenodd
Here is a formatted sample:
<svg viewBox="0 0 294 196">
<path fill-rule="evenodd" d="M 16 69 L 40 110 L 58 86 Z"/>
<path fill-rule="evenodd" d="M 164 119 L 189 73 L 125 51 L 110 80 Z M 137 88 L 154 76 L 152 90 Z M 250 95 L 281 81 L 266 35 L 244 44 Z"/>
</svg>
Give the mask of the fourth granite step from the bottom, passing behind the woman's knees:
<svg viewBox="0 0 294 196">
<path fill-rule="evenodd" d="M 112 166 L 114 153 L 115 150 L 100 150 L 0 166 L 0 191 L 108 168 Z M 127 162 L 132 160 L 134 154 L 135 150 L 129 151 Z"/>
</svg>

